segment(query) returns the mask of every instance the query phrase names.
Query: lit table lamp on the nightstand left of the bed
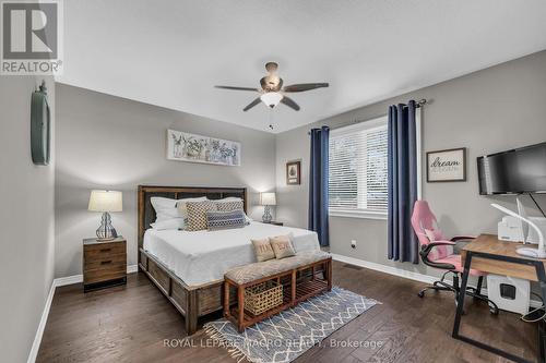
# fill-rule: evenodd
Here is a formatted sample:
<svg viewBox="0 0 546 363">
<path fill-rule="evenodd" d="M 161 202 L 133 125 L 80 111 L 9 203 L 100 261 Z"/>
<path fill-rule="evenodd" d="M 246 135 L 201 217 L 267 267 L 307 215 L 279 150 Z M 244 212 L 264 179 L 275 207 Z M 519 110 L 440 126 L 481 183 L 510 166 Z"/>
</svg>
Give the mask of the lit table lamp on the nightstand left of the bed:
<svg viewBox="0 0 546 363">
<path fill-rule="evenodd" d="M 110 211 L 123 210 L 121 192 L 91 191 L 87 209 L 91 211 L 103 211 L 100 227 L 97 229 L 98 241 L 111 241 L 118 237 L 116 229 L 111 226 Z"/>
</svg>

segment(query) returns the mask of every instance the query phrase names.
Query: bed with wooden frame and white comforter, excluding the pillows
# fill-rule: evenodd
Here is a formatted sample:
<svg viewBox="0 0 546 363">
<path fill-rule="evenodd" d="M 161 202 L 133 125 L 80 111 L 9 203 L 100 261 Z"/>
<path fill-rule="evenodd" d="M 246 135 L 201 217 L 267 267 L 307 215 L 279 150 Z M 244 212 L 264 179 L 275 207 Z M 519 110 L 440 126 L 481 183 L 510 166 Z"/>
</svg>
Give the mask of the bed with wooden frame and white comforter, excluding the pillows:
<svg viewBox="0 0 546 363">
<path fill-rule="evenodd" d="M 256 262 L 251 238 L 292 233 L 297 253 L 320 249 L 317 234 L 312 231 L 257 221 L 245 228 L 213 232 L 154 230 L 150 228 L 155 220 L 155 210 L 150 202 L 153 196 L 176 199 L 235 196 L 244 199 L 246 211 L 247 190 L 139 186 L 139 268 L 185 316 L 188 335 L 197 330 L 199 317 L 223 308 L 224 273 L 230 267 Z"/>
</svg>

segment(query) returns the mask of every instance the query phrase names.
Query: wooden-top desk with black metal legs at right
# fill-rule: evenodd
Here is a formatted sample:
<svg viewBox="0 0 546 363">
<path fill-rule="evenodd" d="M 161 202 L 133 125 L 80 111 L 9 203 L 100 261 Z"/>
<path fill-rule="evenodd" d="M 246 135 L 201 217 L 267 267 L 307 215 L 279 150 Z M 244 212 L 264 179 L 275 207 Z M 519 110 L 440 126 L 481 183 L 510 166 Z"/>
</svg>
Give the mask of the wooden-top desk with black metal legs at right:
<svg viewBox="0 0 546 363">
<path fill-rule="evenodd" d="M 472 268 L 496 275 L 519 277 L 526 280 L 538 281 L 541 293 L 546 301 L 546 259 L 527 258 L 519 255 L 515 250 L 522 243 L 506 242 L 497 239 L 492 234 L 480 234 L 477 239 L 468 243 L 461 251 L 461 261 L 464 261 L 464 271 L 461 281 L 461 291 L 466 291 L 468 282 L 468 271 Z M 453 324 L 452 337 L 489 352 L 505 356 L 514 362 L 527 362 L 521 356 L 511 354 L 498 348 L 485 344 L 480 341 L 467 338 L 459 334 L 461 316 L 464 310 L 464 293 L 458 297 L 455 322 Z M 545 329 L 544 320 L 538 324 L 538 361 L 545 362 Z"/>
</svg>

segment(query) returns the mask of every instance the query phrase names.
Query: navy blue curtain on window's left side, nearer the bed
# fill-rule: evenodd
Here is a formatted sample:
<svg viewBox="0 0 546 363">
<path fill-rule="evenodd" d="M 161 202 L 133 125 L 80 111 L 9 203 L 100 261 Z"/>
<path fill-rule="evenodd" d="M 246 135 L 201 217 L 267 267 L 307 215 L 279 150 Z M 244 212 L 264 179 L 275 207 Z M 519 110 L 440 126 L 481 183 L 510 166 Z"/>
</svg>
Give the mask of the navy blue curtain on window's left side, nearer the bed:
<svg viewBox="0 0 546 363">
<path fill-rule="evenodd" d="M 309 169 L 309 229 L 319 235 L 321 246 L 330 245 L 328 226 L 328 146 L 330 129 L 311 130 Z"/>
</svg>

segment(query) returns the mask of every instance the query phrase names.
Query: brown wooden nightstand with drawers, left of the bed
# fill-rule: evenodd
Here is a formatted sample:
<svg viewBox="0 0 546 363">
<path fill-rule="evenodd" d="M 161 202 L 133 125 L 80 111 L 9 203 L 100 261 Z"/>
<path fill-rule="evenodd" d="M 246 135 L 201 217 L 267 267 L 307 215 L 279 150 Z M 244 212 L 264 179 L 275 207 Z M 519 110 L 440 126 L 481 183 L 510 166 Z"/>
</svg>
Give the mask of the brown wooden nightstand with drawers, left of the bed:
<svg viewBox="0 0 546 363">
<path fill-rule="evenodd" d="M 83 240 L 84 292 L 127 283 L 127 241 Z"/>
</svg>

